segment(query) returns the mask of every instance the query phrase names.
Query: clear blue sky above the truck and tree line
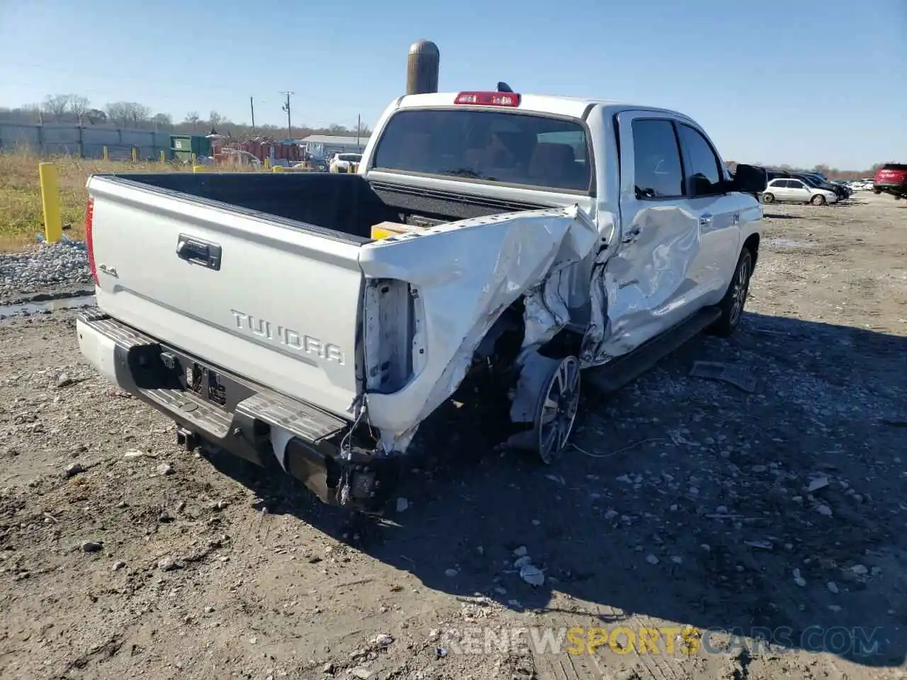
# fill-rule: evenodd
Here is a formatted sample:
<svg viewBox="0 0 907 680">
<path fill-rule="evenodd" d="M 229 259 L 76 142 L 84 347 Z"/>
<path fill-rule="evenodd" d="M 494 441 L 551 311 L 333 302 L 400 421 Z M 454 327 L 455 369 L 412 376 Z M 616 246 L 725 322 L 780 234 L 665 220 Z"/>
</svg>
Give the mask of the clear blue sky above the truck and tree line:
<svg viewBox="0 0 907 680">
<path fill-rule="evenodd" d="M 372 125 L 419 38 L 440 88 L 594 96 L 699 121 L 728 160 L 907 162 L 907 0 L 0 0 L 0 106 L 79 93 Z"/>
</svg>

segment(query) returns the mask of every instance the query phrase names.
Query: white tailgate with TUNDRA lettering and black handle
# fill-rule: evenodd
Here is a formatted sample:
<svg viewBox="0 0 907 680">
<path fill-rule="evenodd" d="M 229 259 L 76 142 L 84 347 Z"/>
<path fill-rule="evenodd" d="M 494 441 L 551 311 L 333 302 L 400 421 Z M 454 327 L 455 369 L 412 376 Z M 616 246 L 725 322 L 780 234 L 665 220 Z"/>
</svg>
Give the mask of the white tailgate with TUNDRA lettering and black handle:
<svg viewBox="0 0 907 680">
<path fill-rule="evenodd" d="M 363 289 L 356 238 L 129 180 L 93 177 L 88 188 L 102 311 L 351 417 Z"/>
</svg>

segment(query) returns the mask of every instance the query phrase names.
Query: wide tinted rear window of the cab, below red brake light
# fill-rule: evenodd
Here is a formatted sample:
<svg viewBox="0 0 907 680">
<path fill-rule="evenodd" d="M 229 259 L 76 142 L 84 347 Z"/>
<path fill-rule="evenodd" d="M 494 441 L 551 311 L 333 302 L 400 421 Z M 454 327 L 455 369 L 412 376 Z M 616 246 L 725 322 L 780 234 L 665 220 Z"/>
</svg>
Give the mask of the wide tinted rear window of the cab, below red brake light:
<svg viewBox="0 0 907 680">
<path fill-rule="evenodd" d="M 592 177 L 579 121 L 474 109 L 396 112 L 374 167 L 582 193 Z"/>
</svg>

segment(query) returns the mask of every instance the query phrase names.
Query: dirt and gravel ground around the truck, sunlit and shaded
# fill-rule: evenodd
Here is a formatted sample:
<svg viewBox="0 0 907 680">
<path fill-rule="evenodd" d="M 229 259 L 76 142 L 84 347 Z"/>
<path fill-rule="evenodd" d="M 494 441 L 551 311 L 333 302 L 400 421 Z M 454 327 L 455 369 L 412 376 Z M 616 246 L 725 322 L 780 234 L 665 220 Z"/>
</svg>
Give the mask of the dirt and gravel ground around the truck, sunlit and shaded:
<svg viewBox="0 0 907 680">
<path fill-rule="evenodd" d="M 747 309 L 590 394 L 551 468 L 438 425 L 402 511 L 352 527 L 180 451 L 83 363 L 73 311 L 10 316 L 0 677 L 905 677 L 907 208 L 766 206 Z"/>
</svg>

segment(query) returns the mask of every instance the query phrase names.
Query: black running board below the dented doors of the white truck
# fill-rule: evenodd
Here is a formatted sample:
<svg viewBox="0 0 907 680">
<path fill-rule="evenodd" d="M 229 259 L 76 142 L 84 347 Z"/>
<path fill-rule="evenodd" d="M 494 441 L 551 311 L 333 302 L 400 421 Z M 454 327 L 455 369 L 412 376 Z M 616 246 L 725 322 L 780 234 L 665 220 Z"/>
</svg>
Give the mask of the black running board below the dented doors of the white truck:
<svg viewBox="0 0 907 680">
<path fill-rule="evenodd" d="M 721 310 L 717 306 L 700 309 L 686 321 L 639 345 L 629 354 L 619 356 L 608 364 L 588 369 L 582 376 L 582 382 L 593 385 L 602 393 L 617 392 L 658 364 L 680 345 L 685 345 L 709 325 L 714 324 L 719 316 Z"/>
</svg>

